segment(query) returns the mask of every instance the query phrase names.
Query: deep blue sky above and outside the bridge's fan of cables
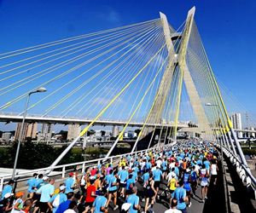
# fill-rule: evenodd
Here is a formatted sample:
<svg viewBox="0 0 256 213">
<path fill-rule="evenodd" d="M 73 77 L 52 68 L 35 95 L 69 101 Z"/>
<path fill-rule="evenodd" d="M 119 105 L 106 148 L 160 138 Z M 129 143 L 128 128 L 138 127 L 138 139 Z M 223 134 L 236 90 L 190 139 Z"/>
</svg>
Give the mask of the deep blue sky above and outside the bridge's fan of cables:
<svg viewBox="0 0 256 213">
<path fill-rule="evenodd" d="M 256 2 L 253 0 L 0 0 L 0 53 L 153 20 L 159 17 L 159 11 L 177 28 L 194 5 L 195 20 L 213 72 L 255 115 Z"/>
</svg>

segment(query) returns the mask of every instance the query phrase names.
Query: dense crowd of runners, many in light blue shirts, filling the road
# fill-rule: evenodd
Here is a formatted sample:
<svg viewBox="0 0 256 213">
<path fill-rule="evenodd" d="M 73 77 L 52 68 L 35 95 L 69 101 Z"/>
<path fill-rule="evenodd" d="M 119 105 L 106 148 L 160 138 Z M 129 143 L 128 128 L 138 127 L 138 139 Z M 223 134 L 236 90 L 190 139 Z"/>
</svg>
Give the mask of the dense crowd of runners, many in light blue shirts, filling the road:
<svg viewBox="0 0 256 213">
<path fill-rule="evenodd" d="M 207 199 L 210 181 L 213 185 L 217 181 L 217 164 L 218 152 L 212 143 L 188 141 L 124 155 L 116 164 L 98 162 L 84 174 L 69 173 L 61 184 L 34 174 L 27 181 L 26 196 L 13 192 L 15 181 L 3 187 L 0 212 L 154 212 L 155 202 L 169 206 L 160 212 L 187 212 L 197 187 L 201 193 L 196 196 L 201 202 Z"/>
</svg>

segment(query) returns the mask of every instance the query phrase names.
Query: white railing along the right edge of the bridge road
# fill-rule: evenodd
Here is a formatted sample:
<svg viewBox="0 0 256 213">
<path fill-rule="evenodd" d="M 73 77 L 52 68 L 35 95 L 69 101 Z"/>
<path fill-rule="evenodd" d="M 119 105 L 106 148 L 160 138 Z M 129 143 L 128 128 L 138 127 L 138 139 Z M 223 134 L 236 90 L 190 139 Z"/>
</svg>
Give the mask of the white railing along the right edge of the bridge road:
<svg viewBox="0 0 256 213">
<path fill-rule="evenodd" d="M 218 145 L 218 147 L 220 147 Z M 236 172 L 241 178 L 241 181 L 247 184 L 247 188 L 251 187 L 254 192 L 254 199 L 256 199 L 256 178 L 252 175 L 251 170 L 244 164 L 241 163 L 241 159 L 234 155 L 228 148 L 223 147 L 224 154 L 230 158 L 231 164 L 236 166 Z"/>
</svg>

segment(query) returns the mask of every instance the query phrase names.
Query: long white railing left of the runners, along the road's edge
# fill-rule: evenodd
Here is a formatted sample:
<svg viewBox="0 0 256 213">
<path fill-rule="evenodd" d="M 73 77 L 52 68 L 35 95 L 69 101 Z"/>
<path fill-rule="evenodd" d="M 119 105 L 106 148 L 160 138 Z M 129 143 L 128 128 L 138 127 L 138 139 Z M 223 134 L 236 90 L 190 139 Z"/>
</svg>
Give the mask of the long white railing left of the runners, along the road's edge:
<svg viewBox="0 0 256 213">
<path fill-rule="evenodd" d="M 165 146 L 165 147 L 168 147 L 168 146 Z M 134 153 L 123 153 L 123 154 L 119 154 L 119 155 L 115 155 L 115 156 L 110 156 L 108 158 L 105 158 L 105 157 L 104 158 L 96 158 L 96 159 L 91 159 L 91 160 L 82 161 L 82 162 L 73 163 L 73 164 L 61 164 L 61 165 L 56 165 L 56 166 L 52 166 L 52 167 L 49 166 L 49 167 L 45 167 L 45 168 L 40 168 L 40 169 L 36 169 L 36 170 L 20 171 L 15 174 L 15 180 L 24 181 L 28 178 L 31 178 L 32 174 L 34 174 L 34 173 L 43 173 L 47 176 L 56 176 L 56 175 L 60 176 L 61 175 L 61 178 L 64 178 L 65 174 L 67 174 L 68 171 L 73 170 L 74 167 L 76 167 L 76 169 L 78 169 L 78 170 L 82 170 L 82 173 L 84 173 L 84 170 L 86 167 L 96 165 L 100 161 L 102 161 L 104 163 L 113 164 L 113 162 L 117 162 L 124 155 L 131 155 L 131 156 L 143 155 L 145 153 L 148 153 L 148 151 L 155 151 L 159 148 L 161 148 L 161 147 L 153 147 L 150 149 L 144 149 L 144 150 L 137 151 Z M 55 171 L 55 174 L 53 174 L 54 171 Z M 57 173 L 56 173 L 56 171 L 57 171 Z M 12 177 L 12 174 L 5 174 L 5 175 L 0 176 L 0 192 L 3 191 L 3 185 L 7 181 L 9 181 L 11 179 L 11 177 Z"/>
</svg>

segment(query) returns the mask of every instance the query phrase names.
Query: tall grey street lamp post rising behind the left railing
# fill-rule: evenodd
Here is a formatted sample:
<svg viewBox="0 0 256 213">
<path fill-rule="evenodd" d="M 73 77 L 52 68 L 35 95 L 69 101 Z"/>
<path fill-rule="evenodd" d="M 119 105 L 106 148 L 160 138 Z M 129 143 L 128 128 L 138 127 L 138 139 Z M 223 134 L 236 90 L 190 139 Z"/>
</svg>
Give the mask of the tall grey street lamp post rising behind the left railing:
<svg viewBox="0 0 256 213">
<path fill-rule="evenodd" d="M 22 141 L 22 136 L 24 135 L 24 124 L 25 124 L 25 119 L 26 119 L 26 111 L 27 111 L 27 106 L 28 106 L 28 102 L 29 102 L 29 98 L 30 95 L 32 95 L 33 93 L 41 93 L 41 92 L 46 92 L 46 89 L 44 87 L 40 87 L 36 90 L 31 91 L 26 98 L 26 105 L 25 105 L 25 110 L 23 113 L 23 118 L 22 118 L 22 123 L 21 123 L 21 127 L 20 127 L 20 135 L 19 135 L 19 141 L 18 141 L 18 147 L 16 149 L 16 155 L 15 155 L 15 164 L 14 164 L 14 169 L 13 169 L 13 175 L 12 175 L 12 179 L 15 179 L 15 171 L 16 171 L 16 166 L 17 166 L 17 162 L 18 162 L 18 158 L 19 158 L 19 153 L 20 153 L 20 143 Z"/>
</svg>

